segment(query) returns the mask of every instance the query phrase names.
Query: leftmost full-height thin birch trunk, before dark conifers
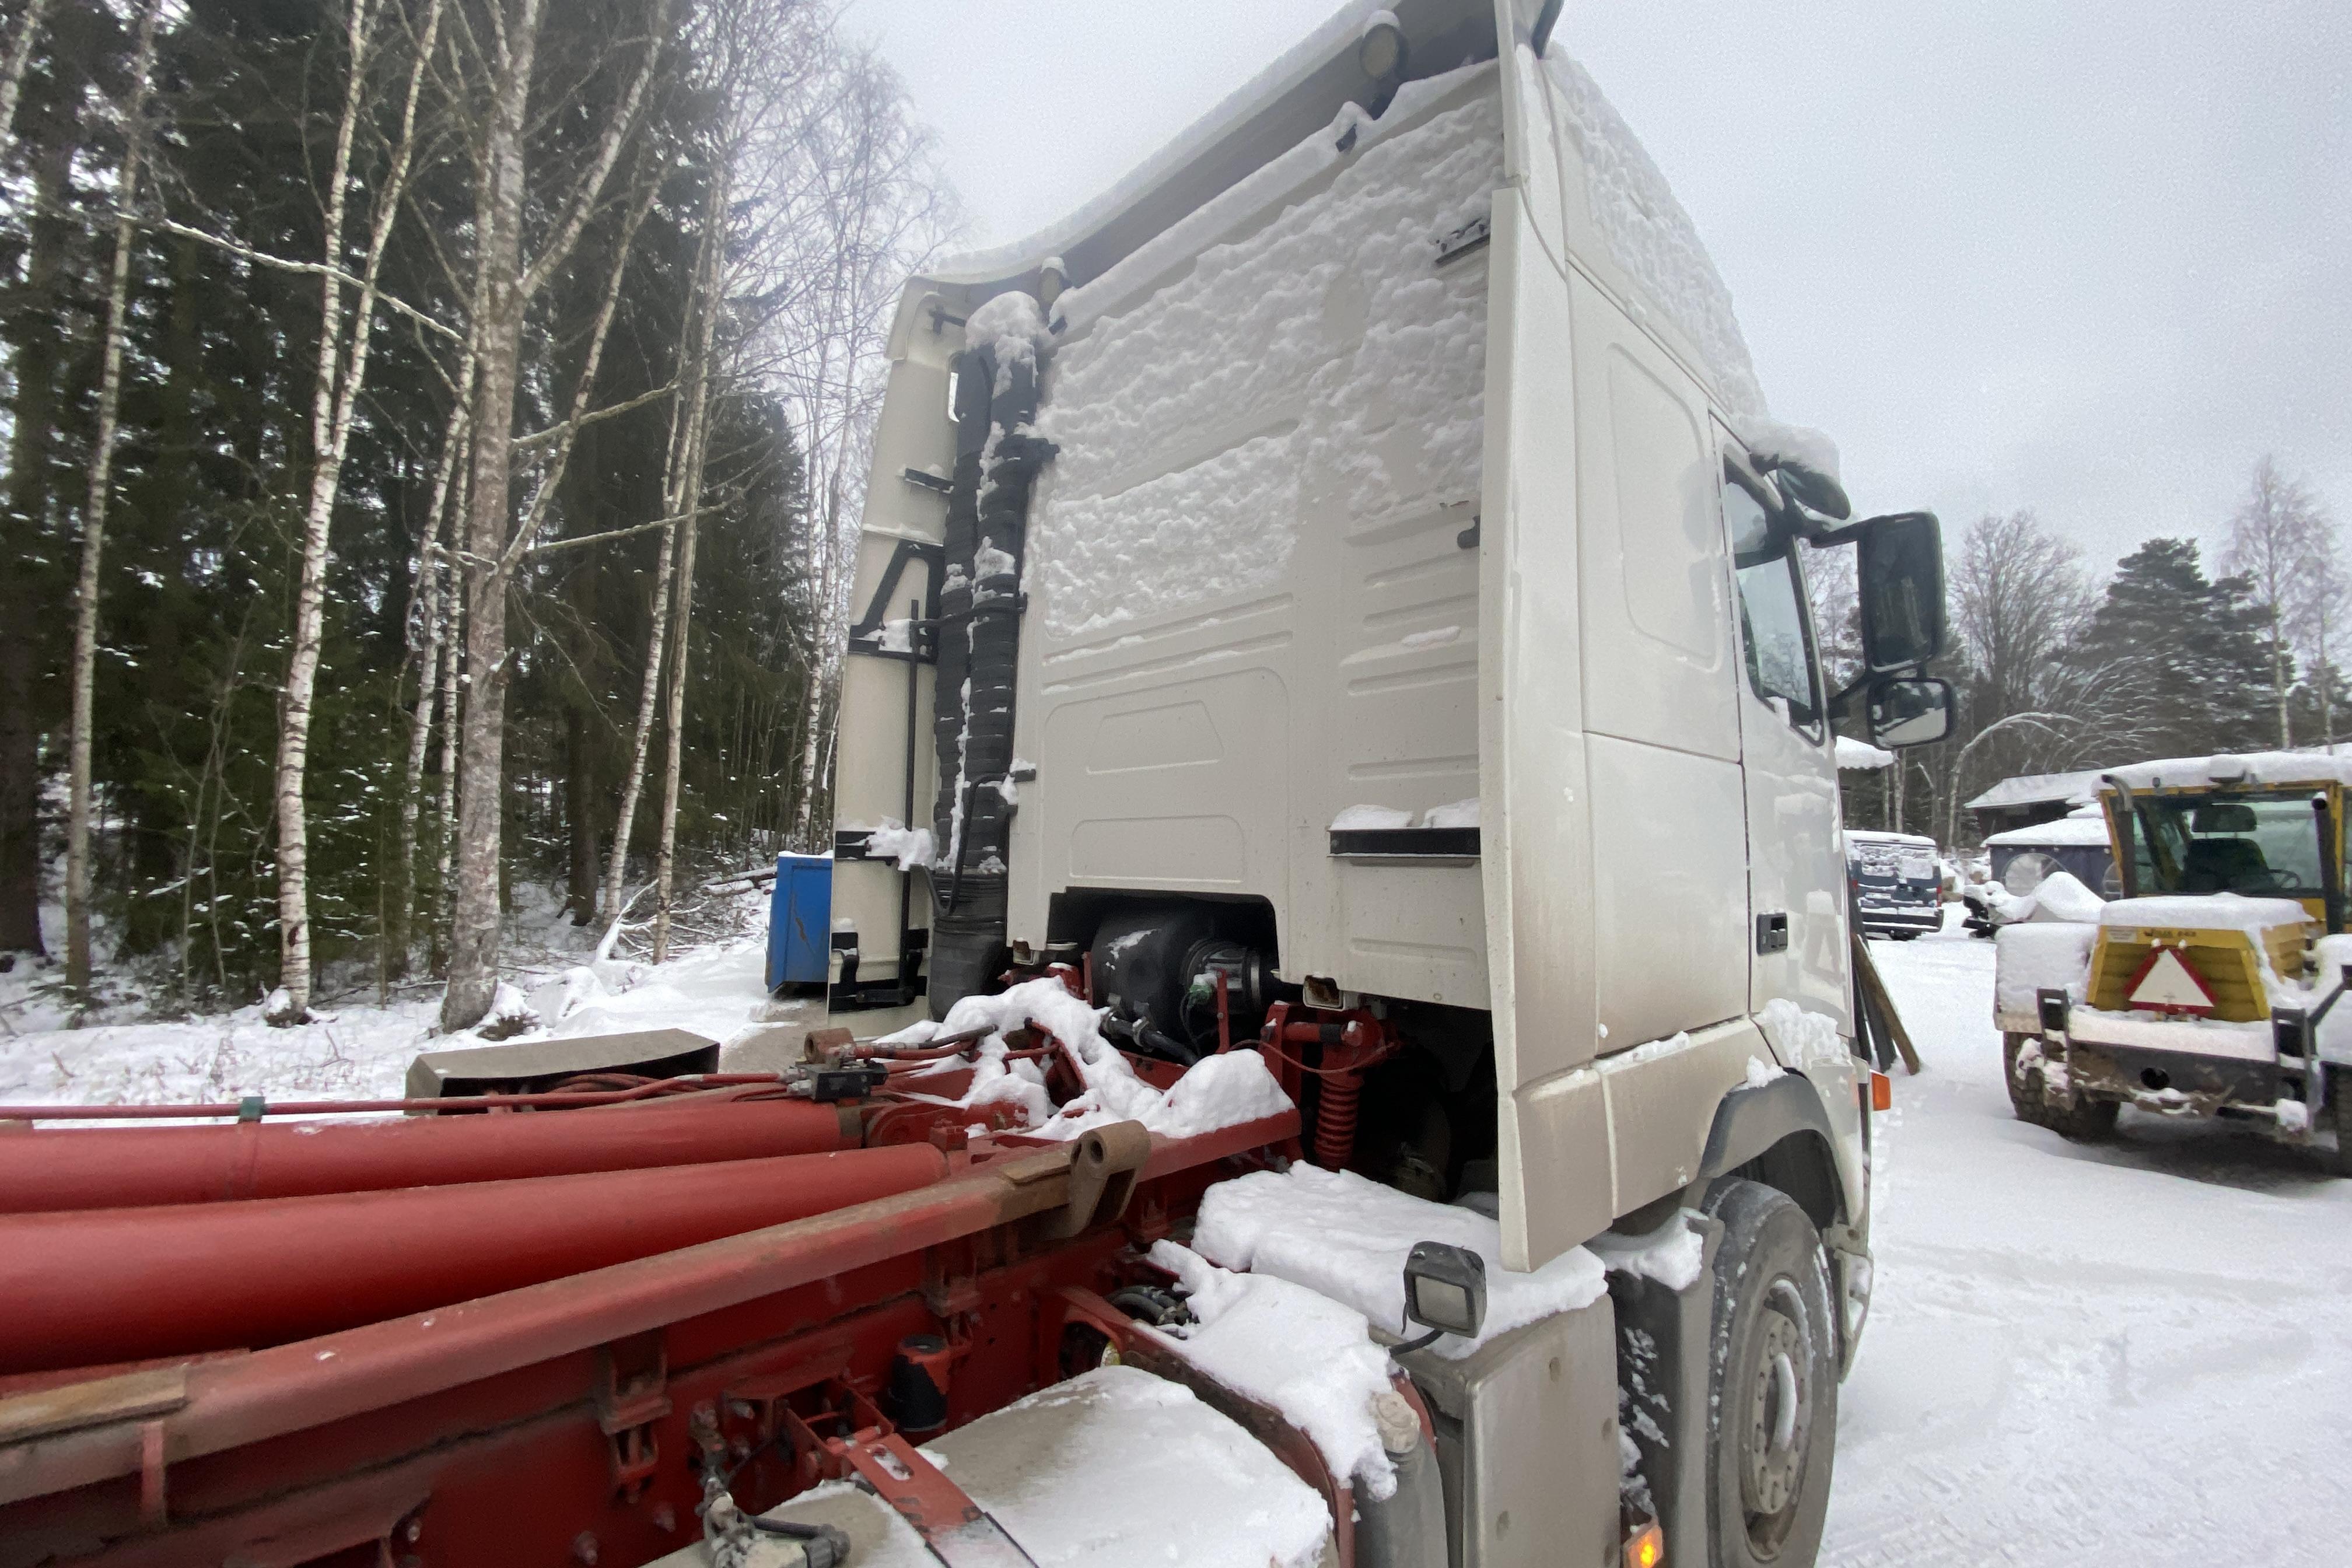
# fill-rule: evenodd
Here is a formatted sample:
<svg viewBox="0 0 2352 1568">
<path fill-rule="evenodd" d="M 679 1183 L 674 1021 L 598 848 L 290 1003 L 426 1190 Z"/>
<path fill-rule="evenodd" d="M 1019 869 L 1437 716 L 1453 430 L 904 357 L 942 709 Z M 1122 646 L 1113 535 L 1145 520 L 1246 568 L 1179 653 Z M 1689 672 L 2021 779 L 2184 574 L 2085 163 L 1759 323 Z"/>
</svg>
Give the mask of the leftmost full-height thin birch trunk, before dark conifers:
<svg viewBox="0 0 2352 1568">
<path fill-rule="evenodd" d="M 155 16 L 162 0 L 139 7 L 132 96 L 125 113 L 122 169 L 115 174 L 115 270 L 106 292 L 106 350 L 99 369 L 99 418 L 89 440 L 89 501 L 82 508 L 82 571 L 73 592 L 73 719 L 66 806 L 66 985 L 89 1001 L 89 722 L 99 661 L 99 562 L 106 555 L 106 503 L 113 494 L 115 414 L 122 404 L 122 336 L 132 294 L 132 244 L 139 162 L 146 155 L 148 73 L 155 63 Z"/>
</svg>

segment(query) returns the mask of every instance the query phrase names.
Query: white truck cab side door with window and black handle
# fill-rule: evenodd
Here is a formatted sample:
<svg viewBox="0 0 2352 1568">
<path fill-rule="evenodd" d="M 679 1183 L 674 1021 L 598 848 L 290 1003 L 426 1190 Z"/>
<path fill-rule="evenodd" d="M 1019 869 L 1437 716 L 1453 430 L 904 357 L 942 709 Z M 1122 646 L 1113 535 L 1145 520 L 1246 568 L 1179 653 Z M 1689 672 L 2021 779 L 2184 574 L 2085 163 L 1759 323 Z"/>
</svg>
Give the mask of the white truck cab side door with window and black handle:
<svg viewBox="0 0 2352 1568">
<path fill-rule="evenodd" d="M 1722 425 L 1717 425 L 1722 430 Z M 1846 867 L 1837 762 L 1806 609 L 1802 545 L 1776 536 L 1745 454 L 1722 435 L 1724 534 L 1740 628 L 1740 757 L 1748 795 L 1750 1006 L 1776 997 L 1853 1032 L 1846 997 Z M 1790 1063 L 1797 1065 L 1797 1063 Z"/>
</svg>

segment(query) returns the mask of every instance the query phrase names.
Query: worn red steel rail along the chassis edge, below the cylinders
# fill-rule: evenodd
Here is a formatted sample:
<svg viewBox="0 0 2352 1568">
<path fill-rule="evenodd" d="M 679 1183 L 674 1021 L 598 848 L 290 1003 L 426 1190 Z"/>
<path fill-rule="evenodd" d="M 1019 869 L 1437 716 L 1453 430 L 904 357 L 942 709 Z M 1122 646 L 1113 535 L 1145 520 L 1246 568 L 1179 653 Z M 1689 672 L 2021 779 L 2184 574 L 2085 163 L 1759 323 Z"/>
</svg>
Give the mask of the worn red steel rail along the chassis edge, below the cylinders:
<svg viewBox="0 0 2352 1568">
<path fill-rule="evenodd" d="M 1284 1112 L 1202 1138 L 1155 1138 L 1143 1175 L 1214 1166 L 1296 1135 L 1298 1114 Z M 162 1458 L 308 1432 L 960 1241 L 1063 1206 L 1070 1157 L 1073 1145 L 1040 1147 L 807 1220 L 191 1366 L 186 1403 L 160 1418 Z M 136 1476 L 139 1465 L 136 1422 L 0 1446 L 0 1505 Z"/>
</svg>

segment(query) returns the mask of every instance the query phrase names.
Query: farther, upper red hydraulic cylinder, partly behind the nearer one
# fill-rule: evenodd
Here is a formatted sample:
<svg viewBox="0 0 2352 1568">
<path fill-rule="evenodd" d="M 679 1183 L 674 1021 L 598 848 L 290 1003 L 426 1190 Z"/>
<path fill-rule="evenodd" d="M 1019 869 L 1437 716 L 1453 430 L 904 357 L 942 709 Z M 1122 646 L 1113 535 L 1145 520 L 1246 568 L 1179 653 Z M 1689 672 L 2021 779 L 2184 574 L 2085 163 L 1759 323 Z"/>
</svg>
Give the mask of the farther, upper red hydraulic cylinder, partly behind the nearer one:
<svg viewBox="0 0 2352 1568">
<path fill-rule="evenodd" d="M 343 1124 L 66 1126 L 0 1138 L 0 1213 L 440 1187 L 856 1145 L 856 1112 L 811 1100 Z"/>
</svg>

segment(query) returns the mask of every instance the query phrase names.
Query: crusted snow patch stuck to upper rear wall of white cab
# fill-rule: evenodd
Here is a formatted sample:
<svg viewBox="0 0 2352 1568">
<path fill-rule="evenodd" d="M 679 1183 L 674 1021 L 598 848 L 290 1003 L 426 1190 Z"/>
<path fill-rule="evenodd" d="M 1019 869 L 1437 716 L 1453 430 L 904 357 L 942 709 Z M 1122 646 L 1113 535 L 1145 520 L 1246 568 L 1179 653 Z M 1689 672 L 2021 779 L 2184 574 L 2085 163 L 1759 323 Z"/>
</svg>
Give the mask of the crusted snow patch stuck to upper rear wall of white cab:
<svg viewBox="0 0 2352 1568">
<path fill-rule="evenodd" d="M 1134 280 L 1115 270 L 1077 292 L 1073 322 L 1089 322 L 1089 296 L 1112 313 L 1047 371 L 1040 430 L 1061 456 L 1030 578 L 1049 635 L 1268 590 L 1308 527 L 1475 503 L 1486 261 L 1437 268 L 1435 242 L 1482 216 L 1498 181 L 1491 94 L 1367 127 L 1350 153 L 1317 132 L 1221 200 L 1230 212 L 1209 216 L 1230 237 L 1204 237 L 1174 282 L 1124 303 L 1110 294 Z"/>
</svg>

